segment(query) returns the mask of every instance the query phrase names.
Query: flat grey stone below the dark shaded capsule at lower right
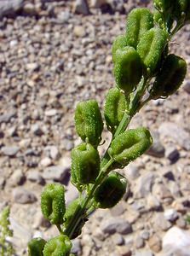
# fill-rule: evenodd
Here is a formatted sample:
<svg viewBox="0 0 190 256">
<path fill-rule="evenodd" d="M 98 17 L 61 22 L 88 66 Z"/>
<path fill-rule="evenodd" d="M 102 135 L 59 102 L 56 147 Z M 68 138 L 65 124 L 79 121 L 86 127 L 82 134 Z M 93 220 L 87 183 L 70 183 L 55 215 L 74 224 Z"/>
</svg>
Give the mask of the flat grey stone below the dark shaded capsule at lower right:
<svg viewBox="0 0 190 256">
<path fill-rule="evenodd" d="M 132 232 L 131 224 L 122 218 L 109 218 L 101 223 L 101 230 L 106 234 L 114 234 L 118 232 L 127 235 Z"/>
</svg>

